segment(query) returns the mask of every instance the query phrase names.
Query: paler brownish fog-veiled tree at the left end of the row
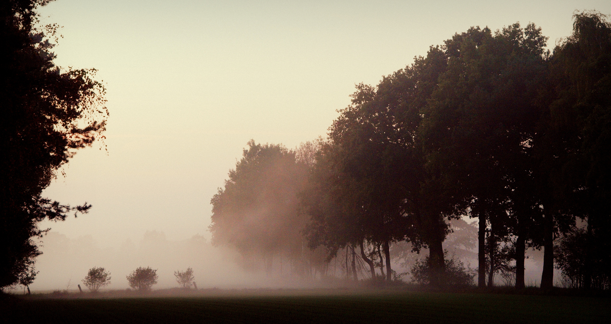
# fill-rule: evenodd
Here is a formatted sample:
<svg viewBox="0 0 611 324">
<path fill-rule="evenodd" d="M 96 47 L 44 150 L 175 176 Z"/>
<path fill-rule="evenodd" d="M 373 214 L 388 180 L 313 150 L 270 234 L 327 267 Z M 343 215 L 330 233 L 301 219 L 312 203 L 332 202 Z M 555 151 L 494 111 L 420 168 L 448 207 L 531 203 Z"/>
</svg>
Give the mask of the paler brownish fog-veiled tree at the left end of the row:
<svg viewBox="0 0 611 324">
<path fill-rule="evenodd" d="M 324 257 L 305 248 L 301 233 L 308 222 L 299 210 L 299 193 L 310 169 L 307 161 L 296 160 L 296 152 L 281 144 L 251 140 L 247 145 L 225 187 L 211 199 L 212 243 L 235 248 L 244 267 L 263 263 L 269 273 L 277 257 L 280 262 L 288 259 L 291 271 L 301 276 L 324 271 Z"/>
</svg>

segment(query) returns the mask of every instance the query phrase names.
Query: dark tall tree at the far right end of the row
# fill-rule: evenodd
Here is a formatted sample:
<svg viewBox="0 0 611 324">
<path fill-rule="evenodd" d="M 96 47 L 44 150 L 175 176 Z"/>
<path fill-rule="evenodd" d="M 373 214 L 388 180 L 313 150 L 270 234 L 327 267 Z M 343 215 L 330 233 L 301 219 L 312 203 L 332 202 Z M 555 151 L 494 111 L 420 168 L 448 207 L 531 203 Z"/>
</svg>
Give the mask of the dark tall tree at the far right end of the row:
<svg viewBox="0 0 611 324">
<path fill-rule="evenodd" d="M 587 219 L 582 287 L 590 289 L 600 258 L 596 250 L 609 246 L 611 234 L 611 23 L 596 11 L 577 12 L 573 18 L 573 33 L 558 44 L 551 60 L 556 97 L 544 144 L 551 148 L 548 160 L 554 166 L 546 174 L 554 188 L 554 213 Z M 566 216 L 547 225 L 550 252 L 541 287 L 551 287 L 554 229 L 567 232 Z M 611 254 L 602 259 L 609 262 Z"/>
</svg>

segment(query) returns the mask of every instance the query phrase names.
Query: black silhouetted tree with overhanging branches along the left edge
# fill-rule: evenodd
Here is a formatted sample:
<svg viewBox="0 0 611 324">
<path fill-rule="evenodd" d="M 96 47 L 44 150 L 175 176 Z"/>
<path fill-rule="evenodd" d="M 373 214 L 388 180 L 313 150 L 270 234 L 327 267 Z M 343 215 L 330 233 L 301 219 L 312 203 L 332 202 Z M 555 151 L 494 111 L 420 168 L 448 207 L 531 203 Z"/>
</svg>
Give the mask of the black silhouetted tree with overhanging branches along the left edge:
<svg viewBox="0 0 611 324">
<path fill-rule="evenodd" d="M 40 255 L 32 237 L 43 219 L 87 212 L 42 197 L 62 164 L 92 145 L 106 127 L 104 87 L 94 69 L 64 70 L 53 63 L 57 25 L 37 26 L 46 0 L 0 4 L 0 287 L 32 274 Z"/>
</svg>

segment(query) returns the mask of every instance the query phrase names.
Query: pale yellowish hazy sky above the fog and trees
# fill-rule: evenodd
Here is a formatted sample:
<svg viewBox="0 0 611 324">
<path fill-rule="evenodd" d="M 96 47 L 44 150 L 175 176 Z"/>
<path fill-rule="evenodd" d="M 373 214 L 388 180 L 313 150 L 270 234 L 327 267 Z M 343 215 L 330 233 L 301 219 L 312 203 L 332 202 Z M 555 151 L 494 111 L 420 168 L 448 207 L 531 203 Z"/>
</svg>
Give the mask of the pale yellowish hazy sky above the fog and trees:
<svg viewBox="0 0 611 324">
<path fill-rule="evenodd" d="M 576 9 L 611 13 L 611 1 L 51 2 L 39 12 L 64 26 L 56 64 L 97 68 L 111 116 L 108 155 L 81 150 L 44 193 L 92 211 L 41 227 L 104 246 L 147 230 L 210 237 L 210 198 L 249 139 L 326 134 L 355 83 L 470 26 L 532 21 L 553 46 Z"/>
</svg>

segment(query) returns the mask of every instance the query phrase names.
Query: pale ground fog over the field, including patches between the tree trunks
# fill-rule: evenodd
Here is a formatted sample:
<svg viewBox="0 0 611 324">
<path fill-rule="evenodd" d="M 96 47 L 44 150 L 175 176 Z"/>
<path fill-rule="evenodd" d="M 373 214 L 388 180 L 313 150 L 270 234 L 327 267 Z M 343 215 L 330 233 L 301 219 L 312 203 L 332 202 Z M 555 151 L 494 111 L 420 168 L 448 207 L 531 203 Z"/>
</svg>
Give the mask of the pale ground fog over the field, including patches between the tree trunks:
<svg viewBox="0 0 611 324">
<path fill-rule="evenodd" d="M 453 221 L 456 224 L 459 221 Z M 464 222 L 464 221 L 463 221 Z M 470 224 L 477 233 L 477 224 Z M 456 228 L 456 227 L 455 227 Z M 174 271 L 184 271 L 191 267 L 194 270 L 195 282 L 200 289 L 243 289 L 243 288 L 312 288 L 341 287 L 347 282 L 345 268 L 342 268 L 343 250 L 338 252 L 338 258 L 331 260 L 323 283 L 320 274 L 316 278 L 303 278 L 291 273 L 287 260 L 278 257 L 274 259 L 271 271 L 265 271 L 265 266 L 253 268 L 252 263 L 244 263 L 238 254 L 229 248 L 211 245 L 203 235 L 194 235 L 184 240 L 169 240 L 163 232 L 147 231 L 137 240 L 125 238 L 115 242 L 115 245 L 104 245 L 91 235 L 68 237 L 60 232 L 51 231 L 40 239 L 42 256 L 38 257 L 36 268 L 40 271 L 34 284 L 30 286 L 33 292 L 49 292 L 52 290 L 78 290 L 82 279 L 92 267 L 104 267 L 111 272 L 111 284 L 102 290 L 119 290 L 129 287 L 127 274 L 137 267 L 152 267 L 157 269 L 158 284 L 153 289 L 178 287 Z M 459 230 L 448 235 L 444 242 L 448 257 L 457 257 L 471 268 L 477 267 L 477 235 L 461 233 Z M 428 255 L 426 249 L 419 254 L 411 252 L 409 243 L 395 243 L 390 249 L 393 256 L 392 268 L 397 273 L 409 271 L 415 260 Z M 543 265 L 543 252 L 529 249 L 525 260 L 525 282 L 536 285 L 540 282 Z M 340 260 L 337 260 L 340 259 Z M 252 260 L 251 260 L 252 261 Z M 250 267 L 245 267 L 249 264 Z M 379 269 L 377 270 L 379 273 Z M 366 273 L 366 271 L 361 271 Z M 367 276 L 359 279 L 368 278 Z M 410 281 L 409 274 L 404 281 Z M 475 277 L 477 282 L 477 276 Z M 329 285 L 329 282 L 333 282 Z M 504 285 L 503 279 L 497 275 L 496 283 Z"/>
</svg>

